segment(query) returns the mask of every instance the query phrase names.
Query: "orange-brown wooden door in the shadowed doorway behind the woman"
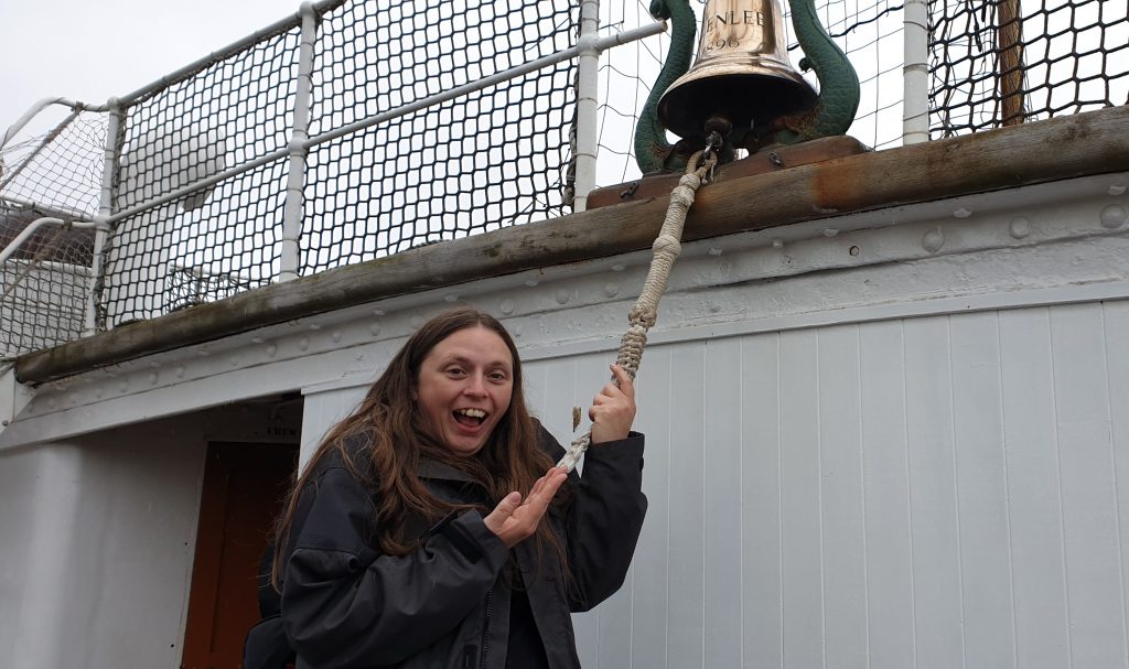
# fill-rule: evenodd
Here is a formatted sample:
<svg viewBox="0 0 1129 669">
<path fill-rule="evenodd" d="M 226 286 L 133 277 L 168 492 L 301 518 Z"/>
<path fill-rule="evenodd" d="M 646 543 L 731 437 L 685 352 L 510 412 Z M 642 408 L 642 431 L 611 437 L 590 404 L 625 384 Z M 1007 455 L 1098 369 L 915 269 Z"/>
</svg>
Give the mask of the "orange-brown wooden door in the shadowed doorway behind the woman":
<svg viewBox="0 0 1129 669">
<path fill-rule="evenodd" d="M 297 444 L 208 444 L 183 669 L 239 669 L 259 622 L 256 575 L 292 481 Z"/>
</svg>

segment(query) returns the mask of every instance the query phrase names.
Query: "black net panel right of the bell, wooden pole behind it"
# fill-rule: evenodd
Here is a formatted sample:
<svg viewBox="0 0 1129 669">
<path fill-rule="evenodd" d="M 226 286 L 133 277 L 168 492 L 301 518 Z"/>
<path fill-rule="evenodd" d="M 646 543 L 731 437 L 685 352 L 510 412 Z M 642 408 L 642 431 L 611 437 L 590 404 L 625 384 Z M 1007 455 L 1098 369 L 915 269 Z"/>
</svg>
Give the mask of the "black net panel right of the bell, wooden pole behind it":
<svg viewBox="0 0 1129 669">
<path fill-rule="evenodd" d="M 930 134 L 1129 103 L 1124 0 L 933 0 Z"/>
</svg>

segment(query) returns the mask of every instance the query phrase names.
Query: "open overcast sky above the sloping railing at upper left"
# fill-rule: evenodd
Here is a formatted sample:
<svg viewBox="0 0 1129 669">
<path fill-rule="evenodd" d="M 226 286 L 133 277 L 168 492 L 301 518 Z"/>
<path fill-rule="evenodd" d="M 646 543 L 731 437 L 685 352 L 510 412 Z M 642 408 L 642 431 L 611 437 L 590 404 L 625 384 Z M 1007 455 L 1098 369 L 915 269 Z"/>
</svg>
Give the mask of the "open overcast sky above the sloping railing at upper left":
<svg viewBox="0 0 1129 669">
<path fill-rule="evenodd" d="M 5 0 L 0 131 L 45 97 L 103 104 L 137 90 L 297 14 L 299 6 L 300 0 Z"/>
</svg>

